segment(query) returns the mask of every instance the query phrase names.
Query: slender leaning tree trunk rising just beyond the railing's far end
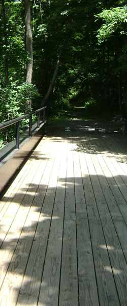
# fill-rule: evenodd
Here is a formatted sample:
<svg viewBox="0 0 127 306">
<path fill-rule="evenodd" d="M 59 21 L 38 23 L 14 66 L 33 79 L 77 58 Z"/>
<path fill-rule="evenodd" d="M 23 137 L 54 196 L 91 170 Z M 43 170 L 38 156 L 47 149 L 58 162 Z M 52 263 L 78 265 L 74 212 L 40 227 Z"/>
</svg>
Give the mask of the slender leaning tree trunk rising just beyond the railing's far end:
<svg viewBox="0 0 127 306">
<path fill-rule="evenodd" d="M 62 47 L 60 49 L 58 60 L 57 60 L 57 64 L 56 64 L 56 68 L 54 70 L 53 77 L 52 77 L 51 83 L 49 85 L 48 91 L 45 94 L 45 96 L 44 96 L 44 98 L 43 98 L 43 100 L 41 102 L 41 105 L 40 105 L 41 107 L 45 105 L 45 102 L 47 101 L 48 97 L 50 96 L 50 94 L 53 91 L 53 88 L 54 88 L 54 85 L 55 85 L 55 81 L 56 81 L 57 75 L 58 75 L 58 70 L 59 70 L 59 66 L 60 66 L 61 56 L 62 56 L 63 50 L 65 49 L 65 47 L 66 47 L 70 37 L 71 37 L 71 33 L 66 37 L 65 42 L 63 43 L 63 45 L 62 45 Z"/>
</svg>

